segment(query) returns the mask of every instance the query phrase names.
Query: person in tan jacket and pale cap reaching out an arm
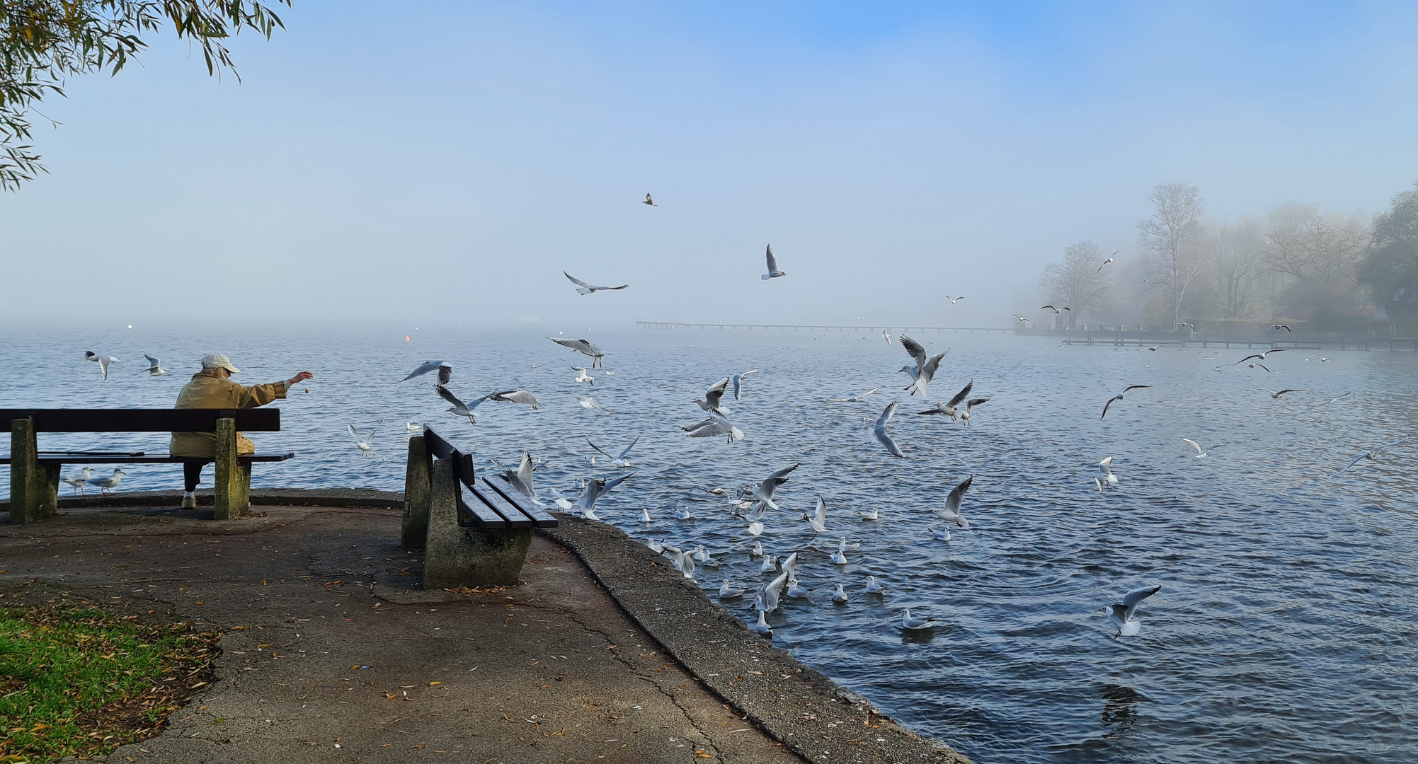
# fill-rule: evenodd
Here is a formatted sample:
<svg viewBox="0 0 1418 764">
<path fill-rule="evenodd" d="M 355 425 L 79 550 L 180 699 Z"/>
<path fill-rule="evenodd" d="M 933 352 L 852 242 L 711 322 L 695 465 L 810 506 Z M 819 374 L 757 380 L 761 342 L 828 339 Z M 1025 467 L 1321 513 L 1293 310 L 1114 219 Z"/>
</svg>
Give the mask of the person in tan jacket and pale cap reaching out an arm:
<svg viewBox="0 0 1418 764">
<path fill-rule="evenodd" d="M 231 366 L 231 359 L 221 353 L 204 356 L 201 371 L 193 374 L 191 381 L 177 393 L 177 404 L 173 408 L 254 408 L 284 398 L 295 383 L 315 378 L 315 374 L 301 371 L 285 381 L 245 387 L 231 381 L 231 376 L 238 373 L 240 370 Z M 173 456 L 206 456 L 210 459 L 217 455 L 217 434 L 173 432 L 167 451 Z M 237 454 L 255 454 L 255 451 L 257 444 L 237 432 Z M 183 465 L 183 509 L 197 506 L 197 482 L 201 479 L 204 465 L 206 462 Z"/>
</svg>

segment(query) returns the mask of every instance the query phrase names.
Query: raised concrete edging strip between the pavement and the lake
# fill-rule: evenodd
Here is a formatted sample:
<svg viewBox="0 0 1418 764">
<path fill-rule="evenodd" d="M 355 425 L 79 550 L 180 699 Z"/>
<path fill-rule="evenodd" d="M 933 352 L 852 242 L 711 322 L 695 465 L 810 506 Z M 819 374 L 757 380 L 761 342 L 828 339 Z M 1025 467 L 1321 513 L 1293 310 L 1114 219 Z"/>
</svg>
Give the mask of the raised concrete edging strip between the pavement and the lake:
<svg viewBox="0 0 1418 764">
<path fill-rule="evenodd" d="M 177 506 L 180 499 L 176 490 L 75 496 L 61 499 L 60 509 Z M 203 503 L 211 505 L 210 490 L 199 492 Z M 372 489 L 262 489 L 251 492 L 251 503 L 403 509 L 404 496 Z M 0 502 L 0 512 L 9 512 L 9 502 Z M 557 519 L 560 527 L 537 533 L 570 551 L 665 655 L 797 755 L 824 764 L 970 764 L 947 744 L 912 733 L 865 697 L 752 632 L 664 556 L 618 527 L 560 513 Z"/>
</svg>

